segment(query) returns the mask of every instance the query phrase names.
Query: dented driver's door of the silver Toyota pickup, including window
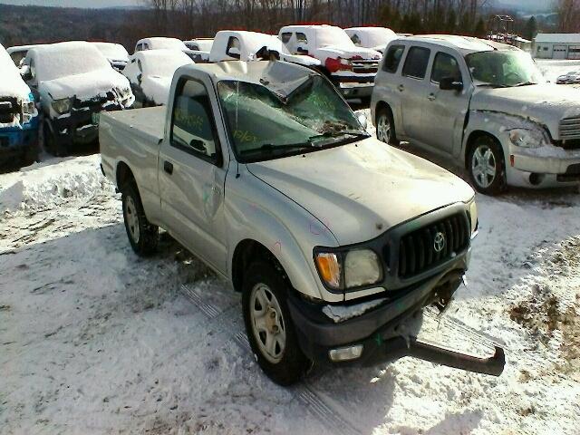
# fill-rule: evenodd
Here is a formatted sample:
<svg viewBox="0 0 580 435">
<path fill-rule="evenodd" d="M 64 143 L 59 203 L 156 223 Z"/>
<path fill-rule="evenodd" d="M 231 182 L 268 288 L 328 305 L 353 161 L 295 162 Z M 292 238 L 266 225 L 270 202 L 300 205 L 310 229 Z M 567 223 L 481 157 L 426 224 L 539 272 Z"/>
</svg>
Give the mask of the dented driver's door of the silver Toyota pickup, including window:
<svg viewBox="0 0 580 435">
<path fill-rule="evenodd" d="M 227 165 L 208 87 L 196 79 L 179 82 L 170 110 L 169 134 L 159 159 L 162 220 L 191 252 L 203 254 L 210 266 L 225 273 Z"/>
</svg>

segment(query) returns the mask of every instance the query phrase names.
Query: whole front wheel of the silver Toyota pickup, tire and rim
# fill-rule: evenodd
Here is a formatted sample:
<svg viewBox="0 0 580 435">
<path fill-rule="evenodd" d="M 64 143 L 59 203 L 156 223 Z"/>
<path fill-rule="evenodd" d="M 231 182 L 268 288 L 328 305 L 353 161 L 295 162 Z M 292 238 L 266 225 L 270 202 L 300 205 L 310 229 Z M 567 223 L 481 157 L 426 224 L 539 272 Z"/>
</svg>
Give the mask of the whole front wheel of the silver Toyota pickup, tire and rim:
<svg viewBox="0 0 580 435">
<path fill-rule="evenodd" d="M 280 272 L 266 261 L 248 267 L 242 295 L 247 338 L 260 368 L 279 385 L 300 381 L 311 366 L 286 304 L 289 290 Z"/>
</svg>

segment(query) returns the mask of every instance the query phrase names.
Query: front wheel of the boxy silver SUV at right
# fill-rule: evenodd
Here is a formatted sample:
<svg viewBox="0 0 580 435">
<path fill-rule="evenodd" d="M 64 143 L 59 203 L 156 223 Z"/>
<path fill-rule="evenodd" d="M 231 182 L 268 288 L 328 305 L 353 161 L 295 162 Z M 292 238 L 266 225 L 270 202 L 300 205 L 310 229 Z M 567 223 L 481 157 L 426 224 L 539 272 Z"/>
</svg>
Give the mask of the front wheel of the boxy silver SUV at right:
<svg viewBox="0 0 580 435">
<path fill-rule="evenodd" d="M 504 152 L 498 140 L 491 136 L 481 135 L 473 141 L 469 147 L 467 169 L 473 187 L 484 195 L 498 195 L 507 187 Z"/>
</svg>

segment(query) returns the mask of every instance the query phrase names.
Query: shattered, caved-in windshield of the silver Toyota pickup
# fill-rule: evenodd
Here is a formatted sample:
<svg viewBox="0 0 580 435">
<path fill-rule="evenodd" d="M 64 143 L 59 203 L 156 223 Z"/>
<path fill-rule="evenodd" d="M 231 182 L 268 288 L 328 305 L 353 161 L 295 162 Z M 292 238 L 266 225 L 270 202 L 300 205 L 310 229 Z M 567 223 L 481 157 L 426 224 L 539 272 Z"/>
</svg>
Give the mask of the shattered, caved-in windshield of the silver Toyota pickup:
<svg viewBox="0 0 580 435">
<path fill-rule="evenodd" d="M 218 83 L 227 128 L 240 162 L 271 160 L 368 136 L 353 111 L 318 75 L 292 92 L 262 84 Z"/>
</svg>

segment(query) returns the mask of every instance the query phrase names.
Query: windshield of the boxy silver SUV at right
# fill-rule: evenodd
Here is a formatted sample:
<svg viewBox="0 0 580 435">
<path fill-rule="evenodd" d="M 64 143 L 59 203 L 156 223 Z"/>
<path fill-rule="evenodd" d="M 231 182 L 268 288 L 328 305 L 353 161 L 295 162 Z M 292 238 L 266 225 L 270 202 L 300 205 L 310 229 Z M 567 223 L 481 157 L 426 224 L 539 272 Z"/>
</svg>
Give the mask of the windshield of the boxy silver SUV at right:
<svg viewBox="0 0 580 435">
<path fill-rule="evenodd" d="M 469 72 L 476 85 L 499 88 L 546 82 L 527 53 L 494 51 L 465 56 Z"/>
</svg>

